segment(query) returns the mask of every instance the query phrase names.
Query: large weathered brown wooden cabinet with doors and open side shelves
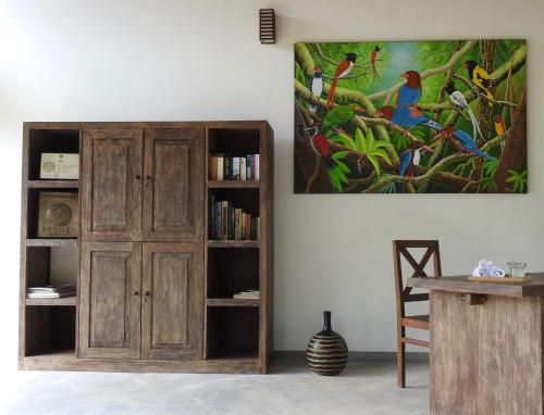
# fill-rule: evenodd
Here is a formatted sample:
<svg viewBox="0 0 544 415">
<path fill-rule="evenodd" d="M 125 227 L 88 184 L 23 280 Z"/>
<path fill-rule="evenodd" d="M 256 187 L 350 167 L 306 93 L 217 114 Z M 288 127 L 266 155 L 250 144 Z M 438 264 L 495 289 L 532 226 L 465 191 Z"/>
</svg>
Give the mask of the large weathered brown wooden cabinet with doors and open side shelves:
<svg viewBox="0 0 544 415">
<path fill-rule="evenodd" d="M 44 152 L 78 153 L 79 179 L 40 179 Z M 211 153 L 259 154 L 260 180 L 210 180 Z M 273 131 L 263 121 L 25 123 L 20 368 L 265 373 L 272 167 Z M 78 194 L 77 237 L 38 237 L 42 191 Z M 258 215 L 258 240 L 211 240 L 211 194 Z M 76 295 L 26 298 L 29 287 L 58 284 L 69 262 Z M 260 299 L 233 298 L 248 289 Z M 106 295 L 113 301 L 94 302 Z"/>
</svg>

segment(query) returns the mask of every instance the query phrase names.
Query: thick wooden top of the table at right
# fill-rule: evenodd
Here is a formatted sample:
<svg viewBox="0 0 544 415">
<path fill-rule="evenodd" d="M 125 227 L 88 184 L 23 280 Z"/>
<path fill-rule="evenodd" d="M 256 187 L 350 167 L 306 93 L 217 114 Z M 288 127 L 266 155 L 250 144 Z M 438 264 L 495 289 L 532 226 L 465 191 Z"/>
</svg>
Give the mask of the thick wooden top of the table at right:
<svg viewBox="0 0 544 415">
<path fill-rule="evenodd" d="M 429 290 L 506 297 L 544 297 L 544 273 L 528 273 L 526 282 L 469 281 L 467 275 L 440 278 L 408 278 L 407 286 Z M 497 278 L 498 279 L 498 278 Z"/>
</svg>

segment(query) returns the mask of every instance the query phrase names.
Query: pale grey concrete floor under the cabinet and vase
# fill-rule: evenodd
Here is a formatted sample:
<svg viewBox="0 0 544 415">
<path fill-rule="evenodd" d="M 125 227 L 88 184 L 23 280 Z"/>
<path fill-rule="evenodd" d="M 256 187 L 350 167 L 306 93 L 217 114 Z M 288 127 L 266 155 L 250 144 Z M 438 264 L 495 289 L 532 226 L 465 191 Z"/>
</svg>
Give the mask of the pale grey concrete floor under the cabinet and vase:
<svg viewBox="0 0 544 415">
<path fill-rule="evenodd" d="M 351 360 L 337 377 L 300 359 L 274 362 L 267 376 L 21 372 L 0 390 L 0 414 L 428 414 L 428 370 L 408 364 L 404 390 L 391 361 Z"/>
</svg>

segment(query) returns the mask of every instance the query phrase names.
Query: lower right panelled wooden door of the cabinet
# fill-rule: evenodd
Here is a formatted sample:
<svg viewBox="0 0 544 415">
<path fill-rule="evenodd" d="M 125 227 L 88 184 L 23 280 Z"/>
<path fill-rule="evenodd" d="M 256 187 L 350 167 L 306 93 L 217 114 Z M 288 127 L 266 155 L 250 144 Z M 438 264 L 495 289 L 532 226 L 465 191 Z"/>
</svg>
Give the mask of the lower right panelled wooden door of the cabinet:
<svg viewBox="0 0 544 415">
<path fill-rule="evenodd" d="M 203 262 L 196 243 L 144 243 L 143 359 L 202 359 Z"/>
</svg>

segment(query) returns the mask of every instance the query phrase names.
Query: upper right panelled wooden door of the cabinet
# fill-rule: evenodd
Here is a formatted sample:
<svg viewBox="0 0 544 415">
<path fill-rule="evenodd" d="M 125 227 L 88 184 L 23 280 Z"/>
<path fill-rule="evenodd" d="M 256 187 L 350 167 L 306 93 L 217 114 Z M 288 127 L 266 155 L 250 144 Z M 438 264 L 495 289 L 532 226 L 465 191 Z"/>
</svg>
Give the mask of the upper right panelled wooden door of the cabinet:
<svg viewBox="0 0 544 415">
<path fill-rule="evenodd" d="M 145 130 L 144 240 L 201 241 L 203 128 Z"/>
</svg>

